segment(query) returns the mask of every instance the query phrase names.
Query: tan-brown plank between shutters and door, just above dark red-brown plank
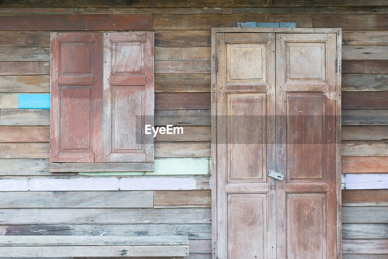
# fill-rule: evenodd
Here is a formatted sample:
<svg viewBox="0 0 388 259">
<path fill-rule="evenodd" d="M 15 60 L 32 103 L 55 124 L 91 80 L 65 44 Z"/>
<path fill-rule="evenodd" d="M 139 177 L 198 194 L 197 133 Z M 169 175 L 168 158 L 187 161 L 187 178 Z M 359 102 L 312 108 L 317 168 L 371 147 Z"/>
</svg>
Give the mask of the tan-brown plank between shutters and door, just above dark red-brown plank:
<svg viewBox="0 0 388 259">
<path fill-rule="evenodd" d="M 156 74 L 155 75 L 155 93 L 185 93 L 185 92 L 210 92 L 210 75 L 209 74 Z"/>
</svg>

